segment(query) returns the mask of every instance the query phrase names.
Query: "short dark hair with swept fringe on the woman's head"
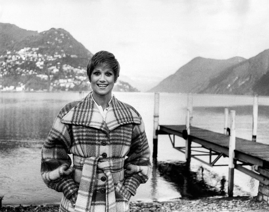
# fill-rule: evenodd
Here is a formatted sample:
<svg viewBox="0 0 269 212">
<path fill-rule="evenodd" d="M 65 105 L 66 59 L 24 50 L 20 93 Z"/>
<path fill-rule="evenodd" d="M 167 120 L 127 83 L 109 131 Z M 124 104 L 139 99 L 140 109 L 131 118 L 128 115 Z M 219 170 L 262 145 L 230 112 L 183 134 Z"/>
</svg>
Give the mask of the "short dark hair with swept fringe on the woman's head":
<svg viewBox="0 0 269 212">
<path fill-rule="evenodd" d="M 109 69 L 112 69 L 115 75 L 114 82 L 117 81 L 119 77 L 120 66 L 118 60 L 112 53 L 107 51 L 100 51 L 92 56 L 87 65 L 87 75 L 90 81 L 91 81 L 91 73 L 98 66 L 104 66 Z"/>
</svg>

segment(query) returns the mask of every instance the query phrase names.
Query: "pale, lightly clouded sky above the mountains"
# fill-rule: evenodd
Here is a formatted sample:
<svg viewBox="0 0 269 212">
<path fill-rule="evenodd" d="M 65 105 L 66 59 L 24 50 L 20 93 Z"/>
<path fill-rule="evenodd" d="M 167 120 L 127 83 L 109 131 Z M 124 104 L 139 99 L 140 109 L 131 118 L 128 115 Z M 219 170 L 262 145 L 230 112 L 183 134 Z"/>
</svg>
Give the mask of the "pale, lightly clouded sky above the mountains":
<svg viewBox="0 0 269 212">
<path fill-rule="evenodd" d="M 91 53 L 112 52 L 140 90 L 195 57 L 249 59 L 269 49 L 267 0 L 0 0 L 0 22 L 63 28 Z M 0 32 L 1 33 L 1 32 Z"/>
</svg>

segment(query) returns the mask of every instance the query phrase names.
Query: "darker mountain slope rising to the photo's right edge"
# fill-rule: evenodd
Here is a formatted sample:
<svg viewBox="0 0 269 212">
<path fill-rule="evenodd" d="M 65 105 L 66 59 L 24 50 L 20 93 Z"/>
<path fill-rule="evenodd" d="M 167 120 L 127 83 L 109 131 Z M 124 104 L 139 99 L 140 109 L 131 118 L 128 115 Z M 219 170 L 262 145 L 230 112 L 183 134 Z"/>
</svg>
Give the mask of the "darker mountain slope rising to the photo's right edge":
<svg viewBox="0 0 269 212">
<path fill-rule="evenodd" d="M 202 93 L 269 95 L 269 49 L 223 71 Z"/>
</svg>

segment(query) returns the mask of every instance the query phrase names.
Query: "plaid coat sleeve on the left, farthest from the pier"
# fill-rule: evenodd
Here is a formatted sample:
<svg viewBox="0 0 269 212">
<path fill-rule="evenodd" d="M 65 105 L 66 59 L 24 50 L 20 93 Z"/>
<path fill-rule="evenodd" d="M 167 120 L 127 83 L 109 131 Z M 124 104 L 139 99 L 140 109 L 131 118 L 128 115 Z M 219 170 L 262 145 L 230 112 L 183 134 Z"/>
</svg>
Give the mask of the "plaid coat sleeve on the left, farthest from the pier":
<svg viewBox="0 0 269 212">
<path fill-rule="evenodd" d="M 61 122 L 58 115 L 41 150 L 41 176 L 45 184 L 76 202 L 78 185 L 72 177 L 73 168 L 68 155 L 71 145 L 69 125 Z"/>
</svg>

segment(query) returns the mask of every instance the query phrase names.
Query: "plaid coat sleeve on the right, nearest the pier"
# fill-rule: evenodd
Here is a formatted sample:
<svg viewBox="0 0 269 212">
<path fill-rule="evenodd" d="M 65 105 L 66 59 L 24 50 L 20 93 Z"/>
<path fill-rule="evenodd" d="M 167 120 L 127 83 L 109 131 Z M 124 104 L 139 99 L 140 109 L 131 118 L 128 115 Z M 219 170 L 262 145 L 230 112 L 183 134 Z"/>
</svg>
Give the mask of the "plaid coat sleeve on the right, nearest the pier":
<svg viewBox="0 0 269 212">
<path fill-rule="evenodd" d="M 142 119 L 141 124 L 135 124 L 133 127 L 132 142 L 127 156 L 124 165 L 124 186 L 134 196 L 138 186 L 147 182 L 151 171 L 150 148 Z"/>
</svg>

